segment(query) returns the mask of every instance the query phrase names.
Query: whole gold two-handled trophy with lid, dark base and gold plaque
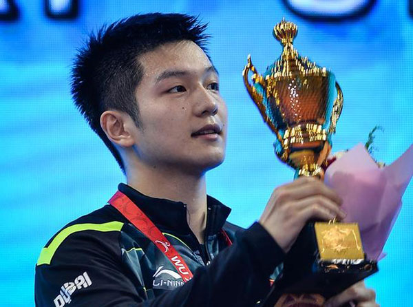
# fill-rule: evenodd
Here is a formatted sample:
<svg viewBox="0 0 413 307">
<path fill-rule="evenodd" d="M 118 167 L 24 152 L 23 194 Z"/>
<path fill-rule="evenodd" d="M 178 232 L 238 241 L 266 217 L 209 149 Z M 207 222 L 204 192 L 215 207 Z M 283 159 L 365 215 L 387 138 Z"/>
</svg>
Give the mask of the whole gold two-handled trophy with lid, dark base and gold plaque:
<svg viewBox="0 0 413 307">
<path fill-rule="evenodd" d="M 293 47 L 297 25 L 283 19 L 273 34 L 284 50 L 264 75 L 248 56 L 242 72 L 246 89 L 277 137 L 278 158 L 296 170 L 295 178 L 323 180 L 343 93 L 332 72 L 299 56 Z M 357 223 L 309 222 L 288 252 L 266 306 L 322 306 L 376 271 L 377 262 L 366 260 Z"/>
</svg>

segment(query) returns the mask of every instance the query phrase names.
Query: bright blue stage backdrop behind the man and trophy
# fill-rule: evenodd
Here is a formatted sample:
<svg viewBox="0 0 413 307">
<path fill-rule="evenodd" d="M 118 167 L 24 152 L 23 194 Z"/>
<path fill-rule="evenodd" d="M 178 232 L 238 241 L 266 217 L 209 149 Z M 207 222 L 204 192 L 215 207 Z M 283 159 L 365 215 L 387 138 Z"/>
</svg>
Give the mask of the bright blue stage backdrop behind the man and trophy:
<svg viewBox="0 0 413 307">
<path fill-rule="evenodd" d="M 407 0 L 372 6 L 375 1 L 324 1 L 359 10 L 341 21 L 333 20 L 340 12 L 328 20 L 319 18 L 326 12 L 305 6 L 303 13 L 300 1 L 79 0 L 71 11 L 75 2 L 0 0 L 0 17 L 9 19 L 0 21 L 0 306 L 33 306 L 41 248 L 64 224 L 103 206 L 125 181 L 70 96 L 76 48 L 103 23 L 138 12 L 184 12 L 209 23 L 210 54 L 229 107 L 229 141 L 224 164 L 208 175 L 208 191 L 232 207 L 235 224 L 257 220 L 273 189 L 293 179 L 273 154 L 275 136 L 241 77 L 248 54 L 261 73 L 279 56 L 272 29 L 282 17 L 299 25 L 300 54 L 335 72 L 343 89 L 333 151 L 366 142 L 376 125 L 384 130 L 374 140 L 377 160 L 390 163 L 412 143 L 413 18 Z M 301 1 L 311 2 L 322 1 Z M 312 14 L 318 18 L 309 19 Z M 413 304 L 412 227 L 410 184 L 385 246 L 388 255 L 367 280 L 381 306 Z"/>
</svg>

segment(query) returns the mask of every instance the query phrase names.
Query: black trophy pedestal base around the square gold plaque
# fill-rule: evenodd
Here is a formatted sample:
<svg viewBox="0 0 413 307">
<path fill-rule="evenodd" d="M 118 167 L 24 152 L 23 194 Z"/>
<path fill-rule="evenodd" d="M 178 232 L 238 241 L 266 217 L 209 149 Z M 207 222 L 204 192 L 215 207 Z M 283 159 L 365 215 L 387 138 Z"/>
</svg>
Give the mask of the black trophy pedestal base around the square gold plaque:
<svg viewBox="0 0 413 307">
<path fill-rule="evenodd" d="M 264 306 L 275 306 L 285 293 L 317 293 L 328 299 L 378 271 L 377 262 L 373 260 L 321 258 L 316 224 L 319 223 L 306 224 L 297 237 L 297 241 L 286 255 L 282 276 L 274 282 Z M 321 248 L 324 251 L 325 248 Z"/>
</svg>

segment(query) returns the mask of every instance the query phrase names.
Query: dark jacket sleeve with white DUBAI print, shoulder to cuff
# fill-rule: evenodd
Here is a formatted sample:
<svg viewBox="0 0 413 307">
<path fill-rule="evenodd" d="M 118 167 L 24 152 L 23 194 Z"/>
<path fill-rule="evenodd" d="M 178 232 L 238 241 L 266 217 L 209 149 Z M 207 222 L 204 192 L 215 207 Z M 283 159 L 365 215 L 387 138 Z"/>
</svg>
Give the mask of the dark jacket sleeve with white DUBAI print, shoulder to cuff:
<svg viewBox="0 0 413 307">
<path fill-rule="evenodd" d="M 110 235 L 115 240 L 118 233 Z M 189 282 L 146 299 L 123 271 L 114 244 L 96 236 L 89 239 L 87 232 L 67 237 L 52 264 L 36 266 L 36 306 L 251 307 L 264 299 L 270 290 L 268 277 L 284 259 L 282 249 L 255 223 L 209 266 L 198 268 Z"/>
</svg>

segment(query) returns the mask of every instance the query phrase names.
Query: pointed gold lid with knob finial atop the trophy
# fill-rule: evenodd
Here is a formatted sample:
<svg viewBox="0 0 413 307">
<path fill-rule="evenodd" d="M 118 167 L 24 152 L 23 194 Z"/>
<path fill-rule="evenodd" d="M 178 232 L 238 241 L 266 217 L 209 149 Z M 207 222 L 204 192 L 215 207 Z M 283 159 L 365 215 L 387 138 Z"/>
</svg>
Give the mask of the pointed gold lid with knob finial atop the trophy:
<svg viewBox="0 0 413 307">
<path fill-rule="evenodd" d="M 327 76 L 326 67 L 319 67 L 307 57 L 299 56 L 293 46 L 293 40 L 297 36 L 297 25 L 284 19 L 275 25 L 273 35 L 283 45 L 284 50 L 274 65 L 271 67 L 273 78 L 292 78 L 294 76 Z"/>
</svg>

